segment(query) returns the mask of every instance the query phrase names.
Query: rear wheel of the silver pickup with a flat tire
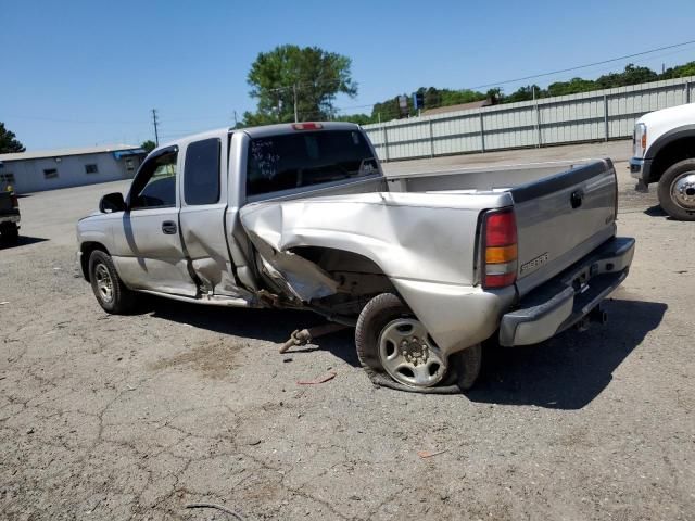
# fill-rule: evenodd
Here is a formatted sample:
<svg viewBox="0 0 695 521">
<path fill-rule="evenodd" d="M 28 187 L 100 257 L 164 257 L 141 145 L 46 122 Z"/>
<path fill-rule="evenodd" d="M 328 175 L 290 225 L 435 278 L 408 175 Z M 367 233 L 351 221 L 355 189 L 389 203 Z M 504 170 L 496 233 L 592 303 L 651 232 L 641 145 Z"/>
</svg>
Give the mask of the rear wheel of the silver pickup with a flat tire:
<svg viewBox="0 0 695 521">
<path fill-rule="evenodd" d="M 480 345 L 443 356 L 422 322 L 392 293 L 377 295 L 364 307 L 355 345 L 375 383 L 403 391 L 460 392 L 480 373 Z"/>
</svg>

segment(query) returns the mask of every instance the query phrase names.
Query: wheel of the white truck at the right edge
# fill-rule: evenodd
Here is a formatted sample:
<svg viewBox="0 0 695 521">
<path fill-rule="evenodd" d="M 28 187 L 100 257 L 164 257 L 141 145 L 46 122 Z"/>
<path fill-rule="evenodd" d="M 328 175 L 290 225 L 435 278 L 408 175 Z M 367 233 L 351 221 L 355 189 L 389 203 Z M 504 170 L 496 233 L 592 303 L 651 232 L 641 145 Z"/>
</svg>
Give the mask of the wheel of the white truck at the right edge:
<svg viewBox="0 0 695 521">
<path fill-rule="evenodd" d="M 695 160 L 668 168 L 659 179 L 661 208 L 678 220 L 695 220 Z"/>
</svg>

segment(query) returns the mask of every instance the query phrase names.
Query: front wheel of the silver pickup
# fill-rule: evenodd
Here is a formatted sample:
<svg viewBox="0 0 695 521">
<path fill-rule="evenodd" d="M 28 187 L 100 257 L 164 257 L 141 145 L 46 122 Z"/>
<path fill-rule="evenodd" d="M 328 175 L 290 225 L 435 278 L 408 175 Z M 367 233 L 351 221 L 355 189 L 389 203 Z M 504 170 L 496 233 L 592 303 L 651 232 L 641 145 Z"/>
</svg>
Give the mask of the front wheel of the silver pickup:
<svg viewBox="0 0 695 521">
<path fill-rule="evenodd" d="M 108 253 L 100 250 L 91 252 L 89 281 L 97 302 L 104 312 L 125 315 L 135 308 L 135 293 L 123 283 Z"/>
</svg>

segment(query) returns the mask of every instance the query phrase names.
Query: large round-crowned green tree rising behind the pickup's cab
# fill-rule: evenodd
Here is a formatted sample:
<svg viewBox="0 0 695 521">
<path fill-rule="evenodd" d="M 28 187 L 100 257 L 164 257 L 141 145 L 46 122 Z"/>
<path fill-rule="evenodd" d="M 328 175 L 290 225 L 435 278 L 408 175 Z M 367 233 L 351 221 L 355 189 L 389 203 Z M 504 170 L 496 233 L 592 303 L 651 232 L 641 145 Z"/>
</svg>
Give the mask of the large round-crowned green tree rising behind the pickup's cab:
<svg viewBox="0 0 695 521">
<path fill-rule="evenodd" d="M 330 119 L 338 93 L 357 96 L 348 56 L 318 47 L 279 46 L 262 52 L 251 65 L 248 81 L 257 100 L 255 113 L 244 114 L 245 125 Z"/>
</svg>

